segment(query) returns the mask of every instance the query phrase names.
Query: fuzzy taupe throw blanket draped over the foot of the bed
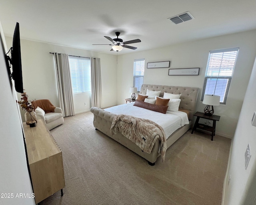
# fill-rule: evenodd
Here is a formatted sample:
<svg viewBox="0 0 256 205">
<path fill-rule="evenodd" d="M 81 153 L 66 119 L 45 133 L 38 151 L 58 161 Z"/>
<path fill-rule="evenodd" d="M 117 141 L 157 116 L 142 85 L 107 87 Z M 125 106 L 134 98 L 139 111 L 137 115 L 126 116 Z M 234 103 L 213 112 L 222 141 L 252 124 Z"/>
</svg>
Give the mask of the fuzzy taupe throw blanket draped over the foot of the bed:
<svg viewBox="0 0 256 205">
<path fill-rule="evenodd" d="M 167 148 L 166 137 L 161 126 L 147 119 L 119 114 L 114 117 L 110 132 L 112 135 L 120 132 L 123 136 L 134 142 L 143 152 L 151 153 L 157 139 L 160 140 L 159 153 L 164 162 Z"/>
</svg>

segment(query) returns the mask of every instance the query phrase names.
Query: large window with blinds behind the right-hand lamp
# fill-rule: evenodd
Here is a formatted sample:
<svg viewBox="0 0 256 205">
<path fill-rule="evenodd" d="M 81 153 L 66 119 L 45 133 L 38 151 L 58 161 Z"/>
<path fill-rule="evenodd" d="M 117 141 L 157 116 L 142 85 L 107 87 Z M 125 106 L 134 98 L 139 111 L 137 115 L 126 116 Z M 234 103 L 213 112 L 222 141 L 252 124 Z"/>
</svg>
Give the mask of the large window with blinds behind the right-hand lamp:
<svg viewBox="0 0 256 205">
<path fill-rule="evenodd" d="M 204 95 L 219 95 L 220 103 L 226 104 L 238 50 L 230 48 L 210 51 L 201 101 Z"/>
</svg>

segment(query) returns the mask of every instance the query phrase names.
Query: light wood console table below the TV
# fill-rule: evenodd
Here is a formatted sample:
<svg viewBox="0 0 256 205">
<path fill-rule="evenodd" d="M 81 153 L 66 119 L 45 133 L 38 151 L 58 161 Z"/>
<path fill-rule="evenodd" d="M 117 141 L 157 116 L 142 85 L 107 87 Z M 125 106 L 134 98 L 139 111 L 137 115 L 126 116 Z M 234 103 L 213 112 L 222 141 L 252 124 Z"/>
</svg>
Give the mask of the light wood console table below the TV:
<svg viewBox="0 0 256 205">
<path fill-rule="evenodd" d="M 35 127 L 23 123 L 35 201 L 46 199 L 65 186 L 62 152 L 42 120 Z"/>
</svg>

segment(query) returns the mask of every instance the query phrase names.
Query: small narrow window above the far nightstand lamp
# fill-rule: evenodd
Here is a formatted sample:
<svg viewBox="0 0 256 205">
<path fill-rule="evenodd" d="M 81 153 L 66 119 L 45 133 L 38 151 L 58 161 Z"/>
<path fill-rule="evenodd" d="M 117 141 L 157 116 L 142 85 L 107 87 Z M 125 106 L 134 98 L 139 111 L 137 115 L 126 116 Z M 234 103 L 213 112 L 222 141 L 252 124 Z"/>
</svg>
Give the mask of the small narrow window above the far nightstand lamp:
<svg viewBox="0 0 256 205">
<path fill-rule="evenodd" d="M 134 60 L 133 87 L 136 87 L 138 91 L 140 91 L 143 84 L 144 67 L 145 59 Z"/>
</svg>

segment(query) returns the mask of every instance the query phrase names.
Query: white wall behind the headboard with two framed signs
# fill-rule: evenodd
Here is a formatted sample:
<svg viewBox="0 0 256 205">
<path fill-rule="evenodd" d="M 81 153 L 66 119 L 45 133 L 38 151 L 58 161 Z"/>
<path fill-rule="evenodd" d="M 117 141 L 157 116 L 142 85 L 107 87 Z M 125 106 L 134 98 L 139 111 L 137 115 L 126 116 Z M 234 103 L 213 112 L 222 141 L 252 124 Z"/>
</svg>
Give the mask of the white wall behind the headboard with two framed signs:
<svg viewBox="0 0 256 205">
<path fill-rule="evenodd" d="M 199 41 L 167 46 L 148 51 L 134 52 L 118 56 L 117 85 L 118 104 L 130 97 L 129 87 L 133 82 L 134 59 L 145 59 L 144 83 L 199 87 L 197 111 L 203 112 L 205 105 L 200 101 L 204 76 L 210 50 L 239 47 L 238 59 L 231 81 L 226 105 L 214 107 L 214 114 L 220 115 L 216 123 L 216 133 L 232 138 L 244 100 L 244 95 L 254 58 L 256 55 L 256 30 L 224 35 Z M 143 40 L 143 39 L 142 39 Z M 168 76 L 168 68 L 147 69 L 148 62 L 171 61 L 170 68 L 200 67 L 198 76 Z"/>
</svg>

